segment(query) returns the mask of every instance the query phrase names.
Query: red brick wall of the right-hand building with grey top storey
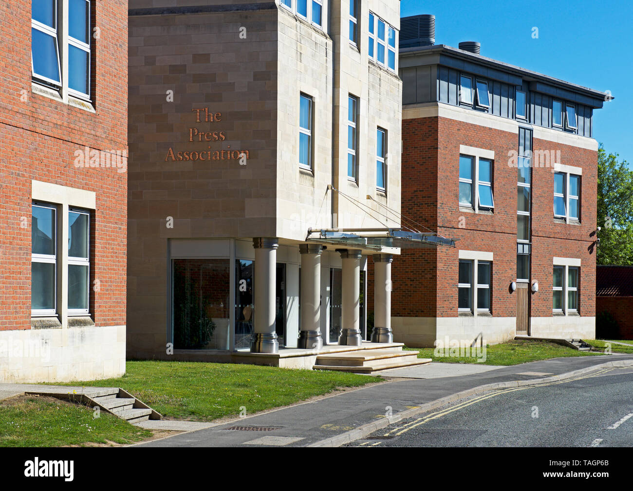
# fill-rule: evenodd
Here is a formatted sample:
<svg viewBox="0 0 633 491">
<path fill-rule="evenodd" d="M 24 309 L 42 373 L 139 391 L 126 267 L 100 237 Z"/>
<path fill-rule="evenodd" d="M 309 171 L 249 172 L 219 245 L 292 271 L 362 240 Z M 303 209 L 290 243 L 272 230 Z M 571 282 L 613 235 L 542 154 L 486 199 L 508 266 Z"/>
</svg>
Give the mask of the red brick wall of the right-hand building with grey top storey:
<svg viewBox="0 0 633 491">
<path fill-rule="evenodd" d="M 493 150 L 494 214 L 459 208 L 460 145 Z M 589 235 L 596 227 L 597 152 L 534 140 L 534 150 L 561 150 L 561 164 L 582 167 L 582 225 L 553 221 L 554 177 L 551 168 L 532 175 L 532 279 L 539 291 L 530 294 L 532 317 L 552 315 L 553 257 L 580 258 L 579 312 L 595 312 L 596 262 Z M 406 252 L 394 258 L 394 317 L 456 317 L 458 250 L 492 252 L 492 315 L 513 317 L 517 243 L 517 168 L 510 152 L 518 151 L 518 133 L 494 130 L 448 118 L 403 121 L 403 215 L 448 238 L 456 248 Z M 404 223 L 404 222 L 403 222 Z M 437 256 L 436 256 L 437 254 Z M 437 268 L 436 268 L 437 265 Z"/>
</svg>

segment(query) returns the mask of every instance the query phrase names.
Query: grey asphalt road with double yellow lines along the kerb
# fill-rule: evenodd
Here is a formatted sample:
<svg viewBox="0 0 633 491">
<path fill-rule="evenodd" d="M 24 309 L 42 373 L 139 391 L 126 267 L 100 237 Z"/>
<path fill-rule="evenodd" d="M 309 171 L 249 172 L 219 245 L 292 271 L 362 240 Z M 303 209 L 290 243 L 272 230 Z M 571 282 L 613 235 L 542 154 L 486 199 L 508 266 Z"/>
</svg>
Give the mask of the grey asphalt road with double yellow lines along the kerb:
<svg viewBox="0 0 633 491">
<path fill-rule="evenodd" d="M 480 394 L 347 446 L 633 447 L 633 368 Z"/>
</svg>

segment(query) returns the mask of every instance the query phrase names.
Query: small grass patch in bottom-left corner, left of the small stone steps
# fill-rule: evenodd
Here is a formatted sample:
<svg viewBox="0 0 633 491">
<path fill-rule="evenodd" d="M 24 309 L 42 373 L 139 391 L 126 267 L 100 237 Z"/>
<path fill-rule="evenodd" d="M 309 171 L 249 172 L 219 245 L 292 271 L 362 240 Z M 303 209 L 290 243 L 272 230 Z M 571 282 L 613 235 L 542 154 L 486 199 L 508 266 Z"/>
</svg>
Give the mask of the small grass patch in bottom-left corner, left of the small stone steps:
<svg viewBox="0 0 633 491">
<path fill-rule="evenodd" d="M 0 402 L 0 447 L 129 444 L 152 436 L 116 416 L 53 397 L 20 396 Z"/>
</svg>

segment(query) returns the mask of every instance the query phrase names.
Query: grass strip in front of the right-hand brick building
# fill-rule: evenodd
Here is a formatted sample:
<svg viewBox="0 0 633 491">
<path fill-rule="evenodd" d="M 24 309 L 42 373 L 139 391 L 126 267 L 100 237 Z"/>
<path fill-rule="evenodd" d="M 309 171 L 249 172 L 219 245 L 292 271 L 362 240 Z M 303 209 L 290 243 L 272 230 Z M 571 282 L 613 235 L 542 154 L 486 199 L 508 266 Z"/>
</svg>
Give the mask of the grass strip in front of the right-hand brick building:
<svg viewBox="0 0 633 491">
<path fill-rule="evenodd" d="M 615 346 L 615 344 L 613 345 Z M 624 348 L 624 346 L 623 346 Z M 405 348 L 419 350 L 418 358 L 431 358 L 443 363 L 477 363 L 477 356 L 435 356 L 434 348 Z M 448 351 L 448 350 L 446 350 Z M 474 349 L 473 349 L 474 352 Z M 449 352 L 450 353 L 450 352 Z M 594 356 L 596 353 L 577 351 L 547 341 L 514 340 L 486 346 L 486 361 L 482 365 L 518 365 L 528 361 L 548 360 L 561 356 Z"/>
</svg>

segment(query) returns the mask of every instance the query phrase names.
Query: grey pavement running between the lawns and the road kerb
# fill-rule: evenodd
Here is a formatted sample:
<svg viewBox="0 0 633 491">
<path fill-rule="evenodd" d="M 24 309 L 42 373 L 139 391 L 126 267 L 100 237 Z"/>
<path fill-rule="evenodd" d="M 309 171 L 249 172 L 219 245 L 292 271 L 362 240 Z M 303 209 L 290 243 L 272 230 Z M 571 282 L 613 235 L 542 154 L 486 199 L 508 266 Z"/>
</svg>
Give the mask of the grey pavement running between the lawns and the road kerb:
<svg viewBox="0 0 633 491">
<path fill-rule="evenodd" d="M 135 446 L 340 446 L 368 435 L 379 427 L 386 427 L 399 419 L 449 403 L 451 398 L 466 397 L 478 391 L 491 391 L 498 387 L 556 379 L 570 372 L 589 372 L 605 363 L 633 366 L 633 355 L 555 358 L 512 367 L 465 368 L 460 364 L 448 363 L 437 365 L 453 365 L 453 367 L 436 367 L 436 364 L 423 365 L 420 369 L 429 367 L 427 378 L 401 380 L 401 376 L 396 375 L 399 379 L 393 382 L 346 391 L 287 408 L 273 409 L 214 427 L 178 433 Z M 484 370 L 484 368 L 490 369 Z M 450 373 L 451 370 L 455 372 Z M 464 374 L 465 370 L 474 370 L 475 373 Z M 458 371 L 462 373 L 455 375 L 454 373 Z M 390 370 L 390 372 L 402 371 Z M 543 377 L 548 378 L 543 379 Z M 248 411 L 248 404 L 245 405 Z"/>
</svg>

